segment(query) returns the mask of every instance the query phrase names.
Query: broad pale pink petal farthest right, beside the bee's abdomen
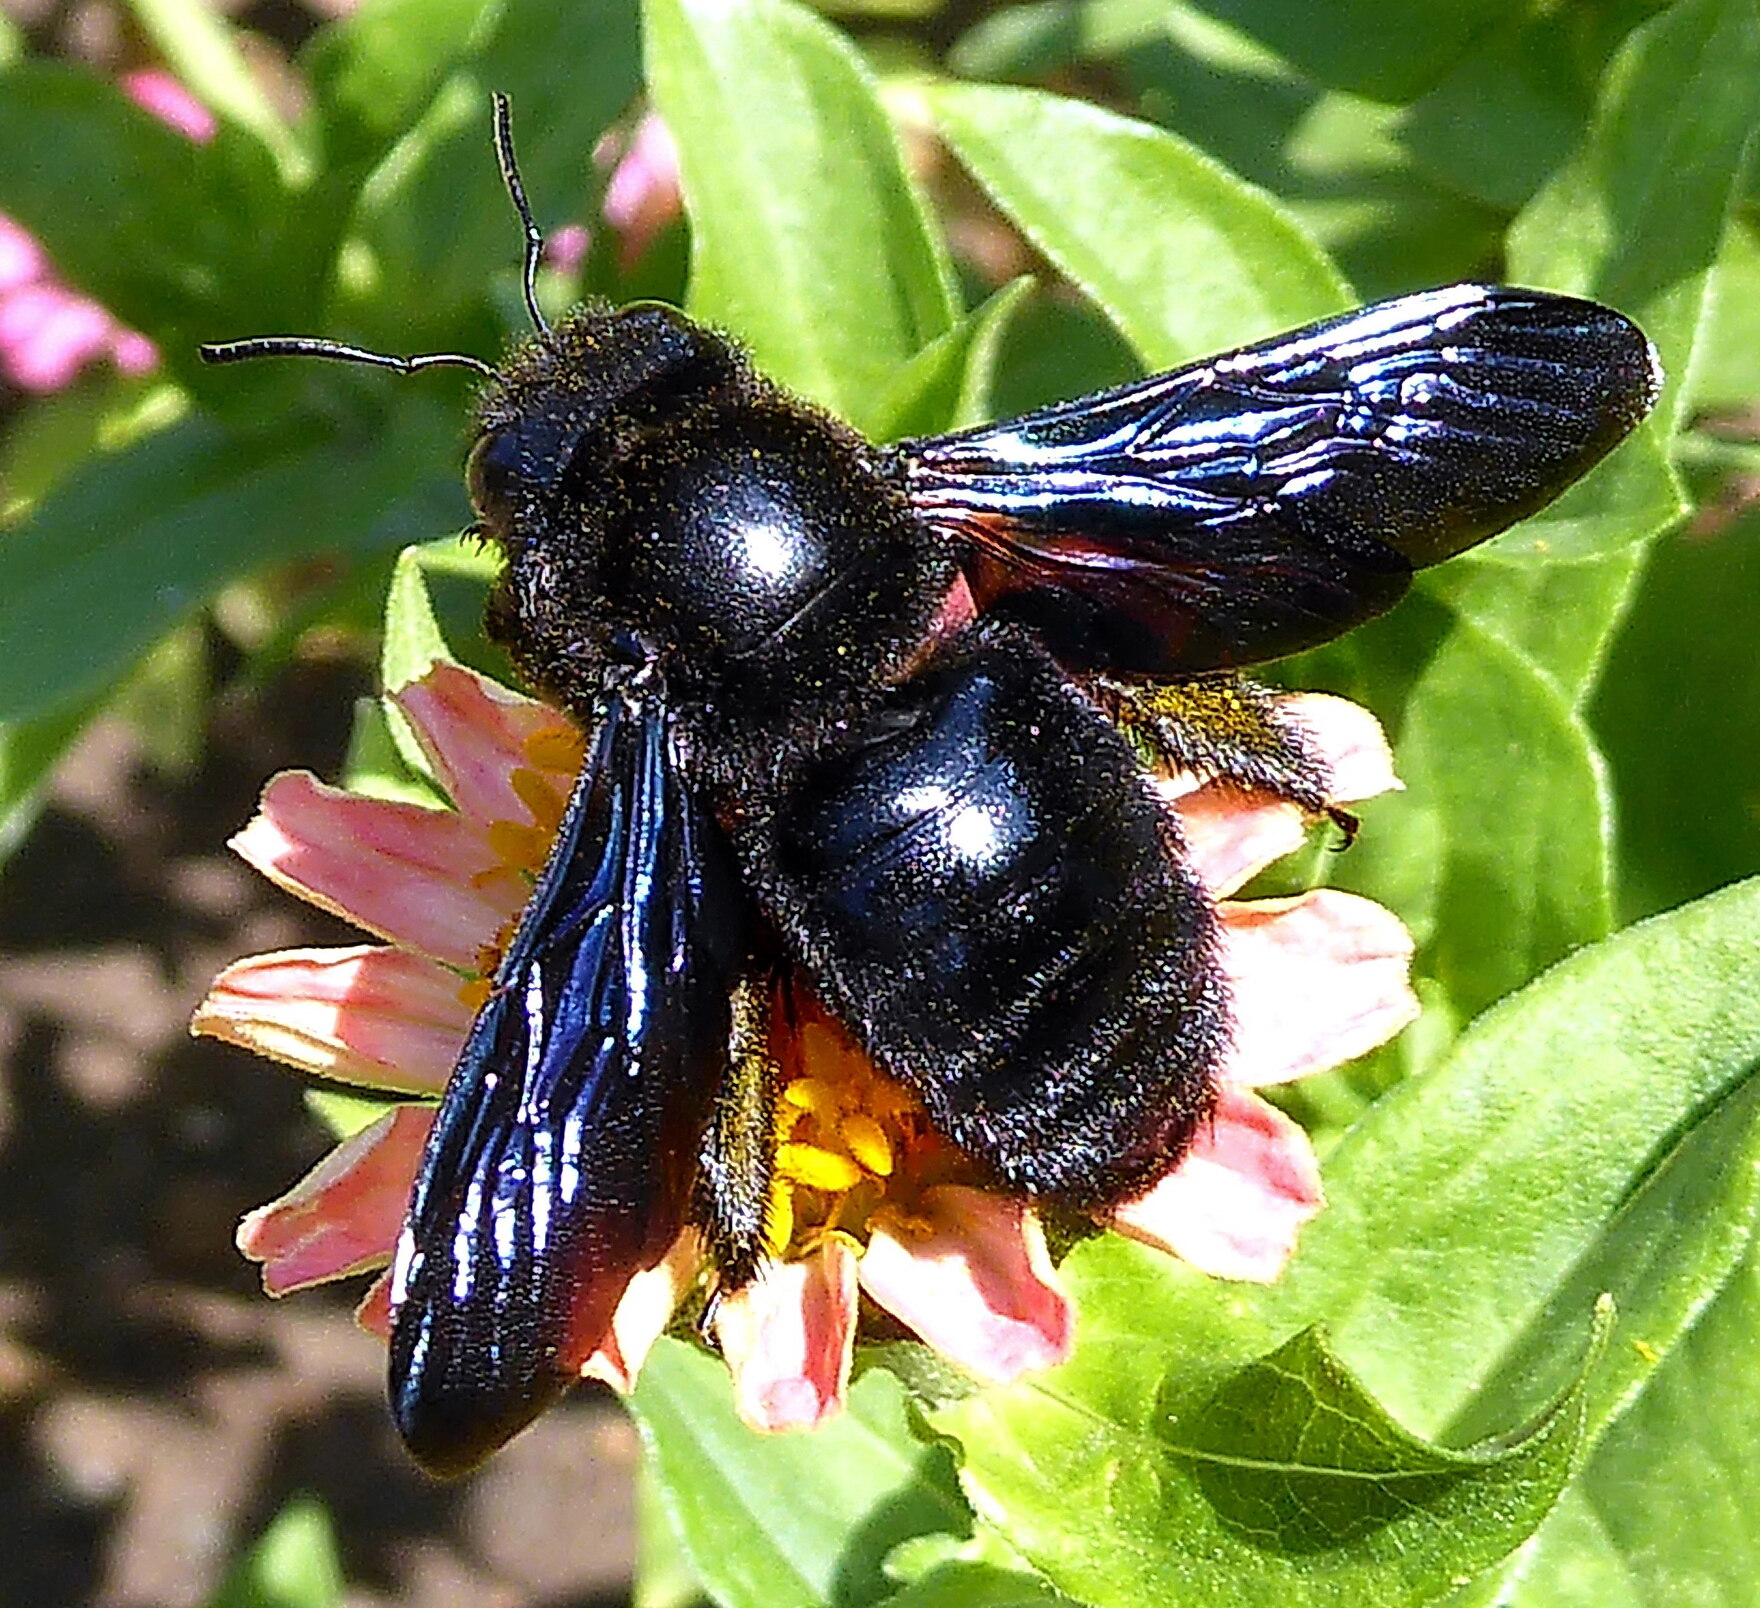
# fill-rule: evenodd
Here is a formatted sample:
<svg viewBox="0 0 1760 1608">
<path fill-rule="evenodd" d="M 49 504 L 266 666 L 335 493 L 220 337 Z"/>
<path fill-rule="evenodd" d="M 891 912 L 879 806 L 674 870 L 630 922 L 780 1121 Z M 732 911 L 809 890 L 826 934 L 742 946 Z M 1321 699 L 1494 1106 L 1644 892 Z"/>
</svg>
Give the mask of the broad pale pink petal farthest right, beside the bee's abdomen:
<svg viewBox="0 0 1760 1608">
<path fill-rule="evenodd" d="M 1355 894 L 1221 906 L 1221 966 L 1234 994 L 1234 1042 L 1221 1077 L 1258 1087 L 1341 1066 L 1419 1013 L 1412 934 Z"/>
</svg>

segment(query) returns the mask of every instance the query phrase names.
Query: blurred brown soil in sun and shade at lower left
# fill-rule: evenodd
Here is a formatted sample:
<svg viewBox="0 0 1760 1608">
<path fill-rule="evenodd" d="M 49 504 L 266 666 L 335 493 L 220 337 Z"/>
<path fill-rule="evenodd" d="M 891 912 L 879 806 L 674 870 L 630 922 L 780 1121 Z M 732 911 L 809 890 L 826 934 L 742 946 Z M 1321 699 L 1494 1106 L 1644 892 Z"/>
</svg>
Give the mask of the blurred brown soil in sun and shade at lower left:
<svg viewBox="0 0 1760 1608">
<path fill-rule="evenodd" d="M 206 756 L 148 772 L 95 728 L 0 876 L 0 1608 L 188 1608 L 296 1494 L 329 1509 L 350 1608 L 628 1601 L 635 1437 L 581 1393 L 435 1485 L 384 1407 L 352 1288 L 269 1302 L 232 1249 L 326 1149 L 297 1077 L 192 1040 L 229 959 L 357 934 L 225 839 L 264 779 L 334 774 L 343 667 L 224 698 Z"/>
</svg>

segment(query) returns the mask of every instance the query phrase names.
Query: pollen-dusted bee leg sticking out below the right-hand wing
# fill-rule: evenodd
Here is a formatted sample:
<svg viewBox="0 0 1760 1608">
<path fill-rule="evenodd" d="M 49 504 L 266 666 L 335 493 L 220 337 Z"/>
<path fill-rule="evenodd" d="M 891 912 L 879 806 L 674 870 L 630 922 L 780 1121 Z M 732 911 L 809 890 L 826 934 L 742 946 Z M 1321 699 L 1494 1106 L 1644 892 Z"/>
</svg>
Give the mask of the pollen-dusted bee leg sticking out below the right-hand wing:
<svg viewBox="0 0 1760 1608">
<path fill-rule="evenodd" d="M 1346 832 L 1353 825 L 1331 802 L 1313 741 L 1271 688 L 1214 674 L 1155 683 L 1098 676 L 1089 690 L 1149 769 L 1218 778 L 1329 815 Z"/>
</svg>

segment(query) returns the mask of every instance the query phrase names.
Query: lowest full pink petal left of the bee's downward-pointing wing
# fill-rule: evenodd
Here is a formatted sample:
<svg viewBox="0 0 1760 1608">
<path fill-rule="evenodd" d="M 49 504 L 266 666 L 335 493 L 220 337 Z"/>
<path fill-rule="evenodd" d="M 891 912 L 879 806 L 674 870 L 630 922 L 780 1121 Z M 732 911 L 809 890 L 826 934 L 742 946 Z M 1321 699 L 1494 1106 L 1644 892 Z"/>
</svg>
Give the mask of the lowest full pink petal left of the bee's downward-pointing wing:
<svg viewBox="0 0 1760 1608">
<path fill-rule="evenodd" d="M 269 1295 L 391 1260 L 433 1114 L 431 1105 L 394 1107 L 239 1223 L 238 1247 L 262 1263 Z"/>
</svg>

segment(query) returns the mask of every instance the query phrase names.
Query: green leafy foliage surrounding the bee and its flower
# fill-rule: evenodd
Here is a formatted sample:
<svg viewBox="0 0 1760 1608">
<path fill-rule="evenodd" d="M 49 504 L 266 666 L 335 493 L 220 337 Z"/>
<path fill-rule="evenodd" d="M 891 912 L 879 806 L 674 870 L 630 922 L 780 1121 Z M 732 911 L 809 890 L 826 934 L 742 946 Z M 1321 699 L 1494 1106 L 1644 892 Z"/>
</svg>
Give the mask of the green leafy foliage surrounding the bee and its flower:
<svg viewBox="0 0 1760 1608">
<path fill-rule="evenodd" d="M 635 1399 L 639 1596 L 1751 1601 L 1760 885 L 1728 887 L 1760 869 L 1751 0 L 906 4 L 848 7 L 850 32 L 788 0 L 368 0 L 297 56 L 292 120 L 229 25 L 136 11 L 211 143 L 0 49 L 0 209 L 164 352 L 4 443 L 0 844 L 106 709 L 187 753 L 201 621 L 243 676 L 313 630 L 382 640 L 387 684 L 444 642 L 495 663 L 480 558 L 398 558 L 468 517 L 458 376 L 194 355 L 498 352 L 521 317 L 489 90 L 549 227 L 597 215 L 591 151 L 642 95 L 678 141 L 688 225 L 630 266 L 598 229 L 546 296 L 679 301 L 882 435 L 1461 278 L 1644 324 L 1651 426 L 1276 672 L 1396 739 L 1408 793 L 1322 873 L 1406 918 L 1429 1006 L 1290 1094 L 1331 1209 L 1288 1279 L 1082 1244 L 1065 1369 L 973 1393 L 891 1348 L 811 1439 L 746 1434 L 667 1342 Z M 352 771 L 431 797 L 378 704 Z M 283 1515 L 262 1557 L 299 1524 L 322 1553 Z"/>
</svg>

